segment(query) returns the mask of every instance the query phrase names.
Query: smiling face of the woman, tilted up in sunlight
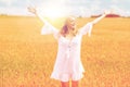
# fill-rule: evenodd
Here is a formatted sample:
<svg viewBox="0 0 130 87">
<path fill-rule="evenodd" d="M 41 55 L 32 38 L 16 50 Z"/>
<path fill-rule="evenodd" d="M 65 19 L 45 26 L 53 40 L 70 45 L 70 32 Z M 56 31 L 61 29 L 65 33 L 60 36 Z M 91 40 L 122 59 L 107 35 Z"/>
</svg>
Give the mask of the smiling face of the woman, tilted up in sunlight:
<svg viewBox="0 0 130 87">
<path fill-rule="evenodd" d="M 76 18 L 72 16 L 67 17 L 66 25 L 69 29 L 76 28 Z"/>
</svg>

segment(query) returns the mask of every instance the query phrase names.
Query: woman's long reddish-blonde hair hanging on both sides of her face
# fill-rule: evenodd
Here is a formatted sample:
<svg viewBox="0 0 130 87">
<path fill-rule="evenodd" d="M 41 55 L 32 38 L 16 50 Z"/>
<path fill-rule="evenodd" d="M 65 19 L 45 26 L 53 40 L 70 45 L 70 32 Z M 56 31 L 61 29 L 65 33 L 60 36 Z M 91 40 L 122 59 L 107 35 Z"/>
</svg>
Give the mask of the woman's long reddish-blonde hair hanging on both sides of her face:
<svg viewBox="0 0 130 87">
<path fill-rule="evenodd" d="M 62 27 L 60 34 L 61 34 L 62 36 L 66 37 L 66 35 L 68 34 L 68 27 L 67 27 L 66 24 Z M 76 29 L 76 28 L 73 28 L 73 36 L 76 36 L 76 34 L 77 34 L 77 29 Z"/>
</svg>

